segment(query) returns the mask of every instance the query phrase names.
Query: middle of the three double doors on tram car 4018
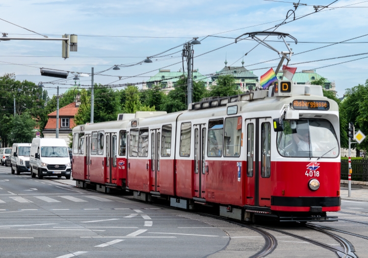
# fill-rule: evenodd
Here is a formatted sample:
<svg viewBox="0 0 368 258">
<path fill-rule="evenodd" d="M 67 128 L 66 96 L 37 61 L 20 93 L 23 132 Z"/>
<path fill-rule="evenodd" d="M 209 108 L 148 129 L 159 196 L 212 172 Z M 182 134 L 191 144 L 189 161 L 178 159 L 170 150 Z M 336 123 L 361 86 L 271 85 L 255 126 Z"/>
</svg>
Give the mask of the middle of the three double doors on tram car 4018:
<svg viewBox="0 0 368 258">
<path fill-rule="evenodd" d="M 206 124 L 194 124 L 194 197 L 206 197 Z"/>
</svg>

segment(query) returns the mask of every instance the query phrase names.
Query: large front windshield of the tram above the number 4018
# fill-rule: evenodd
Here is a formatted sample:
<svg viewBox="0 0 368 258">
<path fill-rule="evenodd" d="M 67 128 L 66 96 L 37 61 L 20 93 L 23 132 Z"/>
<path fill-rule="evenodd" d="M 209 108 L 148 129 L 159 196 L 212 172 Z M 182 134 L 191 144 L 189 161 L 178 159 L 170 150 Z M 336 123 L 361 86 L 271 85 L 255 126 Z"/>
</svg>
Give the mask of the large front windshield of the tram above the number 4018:
<svg viewBox="0 0 368 258">
<path fill-rule="evenodd" d="M 339 142 L 327 120 L 284 121 L 284 131 L 277 133 L 277 149 L 284 157 L 335 158 Z"/>
</svg>

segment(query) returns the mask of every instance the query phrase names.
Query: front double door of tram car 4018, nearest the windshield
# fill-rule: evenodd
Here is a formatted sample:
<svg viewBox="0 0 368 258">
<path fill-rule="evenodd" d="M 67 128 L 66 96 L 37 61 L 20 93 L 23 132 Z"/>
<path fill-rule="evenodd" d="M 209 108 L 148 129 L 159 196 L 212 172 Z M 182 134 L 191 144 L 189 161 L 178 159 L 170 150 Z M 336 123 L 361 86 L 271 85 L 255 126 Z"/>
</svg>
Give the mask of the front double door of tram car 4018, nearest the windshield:
<svg viewBox="0 0 368 258">
<path fill-rule="evenodd" d="M 271 206 L 271 118 L 254 118 L 246 126 L 246 204 Z"/>
</svg>

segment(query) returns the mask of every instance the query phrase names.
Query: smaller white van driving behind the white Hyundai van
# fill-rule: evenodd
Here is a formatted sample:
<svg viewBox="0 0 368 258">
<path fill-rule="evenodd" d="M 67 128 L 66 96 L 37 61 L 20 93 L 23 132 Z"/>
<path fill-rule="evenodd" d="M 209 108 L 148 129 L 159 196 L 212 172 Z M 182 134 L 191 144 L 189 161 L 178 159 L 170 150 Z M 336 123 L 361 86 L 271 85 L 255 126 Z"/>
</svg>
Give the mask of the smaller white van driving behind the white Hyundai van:
<svg viewBox="0 0 368 258">
<path fill-rule="evenodd" d="M 13 143 L 11 149 L 11 173 L 29 172 L 30 143 Z"/>
</svg>

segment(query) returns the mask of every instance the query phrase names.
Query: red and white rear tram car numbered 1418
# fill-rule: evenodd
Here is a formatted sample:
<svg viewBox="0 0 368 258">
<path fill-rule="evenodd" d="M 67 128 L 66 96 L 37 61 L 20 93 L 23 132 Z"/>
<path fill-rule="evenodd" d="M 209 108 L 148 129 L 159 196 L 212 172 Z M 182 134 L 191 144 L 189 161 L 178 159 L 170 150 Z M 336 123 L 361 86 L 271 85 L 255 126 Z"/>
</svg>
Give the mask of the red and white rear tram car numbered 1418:
<svg viewBox="0 0 368 258">
<path fill-rule="evenodd" d="M 119 114 L 117 121 L 87 123 L 73 128 L 73 179 L 79 187 L 125 189 L 127 178 L 126 128 L 130 119 L 166 112 Z"/>
</svg>

